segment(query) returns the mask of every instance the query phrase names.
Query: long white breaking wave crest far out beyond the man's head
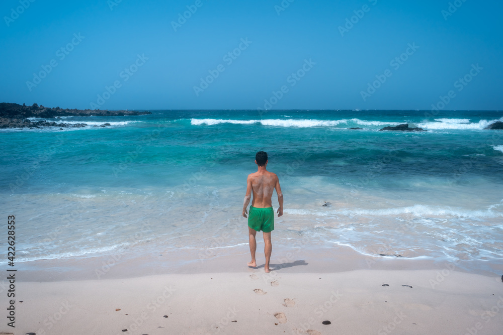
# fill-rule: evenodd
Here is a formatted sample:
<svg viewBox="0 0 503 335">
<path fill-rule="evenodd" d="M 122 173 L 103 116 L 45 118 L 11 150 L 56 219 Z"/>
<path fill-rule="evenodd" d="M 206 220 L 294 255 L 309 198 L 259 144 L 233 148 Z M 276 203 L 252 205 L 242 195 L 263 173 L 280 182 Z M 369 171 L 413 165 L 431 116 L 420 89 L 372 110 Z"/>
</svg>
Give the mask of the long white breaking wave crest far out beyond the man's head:
<svg viewBox="0 0 503 335">
<path fill-rule="evenodd" d="M 274 127 L 298 127 L 298 128 L 309 128 L 309 127 L 334 127 L 342 124 L 355 123 L 362 126 L 396 126 L 399 123 L 396 122 L 380 122 L 380 121 L 365 121 L 360 119 L 348 119 L 348 120 L 280 120 L 280 119 L 268 119 L 268 120 L 222 120 L 222 119 L 191 119 L 191 124 L 193 126 L 199 125 L 218 125 L 222 123 L 229 123 L 235 125 L 251 125 L 251 124 L 261 124 L 263 126 L 274 126 Z"/>
</svg>

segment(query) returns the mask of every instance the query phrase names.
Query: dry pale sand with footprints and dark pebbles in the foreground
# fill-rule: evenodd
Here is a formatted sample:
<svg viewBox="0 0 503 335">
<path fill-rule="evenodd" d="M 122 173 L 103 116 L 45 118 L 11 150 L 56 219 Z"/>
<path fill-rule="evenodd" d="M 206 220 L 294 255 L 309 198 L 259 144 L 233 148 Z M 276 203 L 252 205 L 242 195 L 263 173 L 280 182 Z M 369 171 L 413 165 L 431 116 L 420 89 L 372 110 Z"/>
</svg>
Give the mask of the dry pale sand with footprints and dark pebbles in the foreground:
<svg viewBox="0 0 503 335">
<path fill-rule="evenodd" d="M 447 269 L 285 270 L 18 282 L 14 333 L 473 335 L 503 329 L 499 277 Z M 0 331 L 12 332 L 6 323 Z"/>
</svg>

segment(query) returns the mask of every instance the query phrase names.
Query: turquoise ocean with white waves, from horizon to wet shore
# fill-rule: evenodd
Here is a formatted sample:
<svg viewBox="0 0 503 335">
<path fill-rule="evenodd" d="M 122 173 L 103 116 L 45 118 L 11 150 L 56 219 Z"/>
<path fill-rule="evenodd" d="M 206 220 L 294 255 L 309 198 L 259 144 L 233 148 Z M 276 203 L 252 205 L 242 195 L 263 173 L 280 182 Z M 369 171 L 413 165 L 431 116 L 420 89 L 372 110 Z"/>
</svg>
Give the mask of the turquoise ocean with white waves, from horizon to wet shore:
<svg viewBox="0 0 503 335">
<path fill-rule="evenodd" d="M 89 126 L 0 130 L 2 213 L 16 216 L 16 262 L 25 268 L 184 250 L 199 261 L 247 260 L 241 211 L 257 151 L 268 153 L 285 198 L 274 248 L 345 246 L 366 257 L 461 260 L 470 271 L 503 264 L 503 132 L 484 130 L 503 120 L 501 111 L 152 110 L 63 119 Z M 379 131 L 404 123 L 427 132 Z"/>
</svg>

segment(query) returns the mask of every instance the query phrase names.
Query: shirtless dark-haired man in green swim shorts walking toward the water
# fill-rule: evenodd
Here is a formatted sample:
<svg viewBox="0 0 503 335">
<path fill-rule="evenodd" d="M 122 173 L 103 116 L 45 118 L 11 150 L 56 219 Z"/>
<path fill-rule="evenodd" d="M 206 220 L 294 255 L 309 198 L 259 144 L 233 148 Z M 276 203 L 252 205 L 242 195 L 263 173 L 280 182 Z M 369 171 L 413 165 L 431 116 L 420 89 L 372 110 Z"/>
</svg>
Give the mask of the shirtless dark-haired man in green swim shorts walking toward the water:
<svg viewBox="0 0 503 335">
<path fill-rule="evenodd" d="M 248 237 L 251 253 L 251 262 L 247 263 L 249 267 L 255 268 L 255 251 L 257 250 L 257 241 L 255 235 L 262 230 L 264 236 L 264 254 L 266 254 L 266 272 L 271 272 L 269 261 L 273 246 L 271 244 L 271 232 L 274 230 L 274 210 L 271 197 L 273 190 L 278 194 L 279 208 L 278 217 L 283 215 L 283 193 L 281 193 L 280 182 L 275 173 L 266 170 L 267 153 L 259 151 L 255 155 L 255 164 L 258 165 L 258 171 L 248 175 L 246 179 L 246 195 L 243 203 L 243 216 L 246 216 L 246 207 L 250 202 L 251 192 L 253 191 L 253 200 L 251 200 L 250 212 L 248 217 Z"/>
</svg>

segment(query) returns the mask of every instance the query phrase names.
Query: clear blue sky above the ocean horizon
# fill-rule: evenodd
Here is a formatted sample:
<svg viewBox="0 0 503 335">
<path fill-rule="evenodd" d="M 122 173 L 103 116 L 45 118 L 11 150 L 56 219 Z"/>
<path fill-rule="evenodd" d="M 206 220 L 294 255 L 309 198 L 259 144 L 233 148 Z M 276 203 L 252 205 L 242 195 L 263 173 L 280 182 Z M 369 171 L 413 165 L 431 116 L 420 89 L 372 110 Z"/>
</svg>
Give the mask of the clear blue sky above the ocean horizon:
<svg viewBox="0 0 503 335">
<path fill-rule="evenodd" d="M 0 102 L 503 109 L 500 0 L 290 1 L 4 0 Z"/>
</svg>

